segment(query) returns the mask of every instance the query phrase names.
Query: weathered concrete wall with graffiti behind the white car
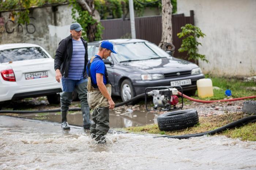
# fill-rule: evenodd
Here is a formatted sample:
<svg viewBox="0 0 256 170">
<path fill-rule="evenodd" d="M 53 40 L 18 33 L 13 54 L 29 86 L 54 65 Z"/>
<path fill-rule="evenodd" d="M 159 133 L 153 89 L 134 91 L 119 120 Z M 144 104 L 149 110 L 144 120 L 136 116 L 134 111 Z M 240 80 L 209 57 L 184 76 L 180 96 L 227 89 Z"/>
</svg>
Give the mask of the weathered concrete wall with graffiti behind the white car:
<svg viewBox="0 0 256 170">
<path fill-rule="evenodd" d="M 27 28 L 26 24 L 18 26 L 17 20 L 12 22 L 9 19 L 10 12 L 1 12 L 1 17 L 4 17 L 4 29 L 0 25 L 0 44 L 38 44 L 54 57 L 60 40 L 70 34 L 69 26 L 73 21 L 71 8 L 69 5 L 59 5 L 55 12 L 53 7 L 34 8 L 30 13 L 33 18 Z"/>
</svg>

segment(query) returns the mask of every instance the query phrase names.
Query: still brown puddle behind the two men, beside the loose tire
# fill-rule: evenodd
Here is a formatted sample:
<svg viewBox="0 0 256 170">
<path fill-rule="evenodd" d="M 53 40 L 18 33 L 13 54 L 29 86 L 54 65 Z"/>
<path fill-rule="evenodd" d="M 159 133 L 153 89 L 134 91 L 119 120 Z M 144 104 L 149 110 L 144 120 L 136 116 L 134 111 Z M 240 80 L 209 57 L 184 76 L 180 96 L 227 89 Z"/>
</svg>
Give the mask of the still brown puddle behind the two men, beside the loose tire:
<svg viewBox="0 0 256 170">
<path fill-rule="evenodd" d="M 52 122 L 60 122 L 61 115 L 56 113 L 45 114 L 19 114 L 19 117 L 48 120 Z M 81 112 L 71 112 L 67 115 L 68 123 L 75 126 L 83 126 L 83 118 Z M 153 112 L 133 111 L 133 112 L 116 112 L 109 113 L 109 127 L 123 128 L 130 126 L 143 126 L 146 124 L 157 123 L 157 114 Z"/>
</svg>

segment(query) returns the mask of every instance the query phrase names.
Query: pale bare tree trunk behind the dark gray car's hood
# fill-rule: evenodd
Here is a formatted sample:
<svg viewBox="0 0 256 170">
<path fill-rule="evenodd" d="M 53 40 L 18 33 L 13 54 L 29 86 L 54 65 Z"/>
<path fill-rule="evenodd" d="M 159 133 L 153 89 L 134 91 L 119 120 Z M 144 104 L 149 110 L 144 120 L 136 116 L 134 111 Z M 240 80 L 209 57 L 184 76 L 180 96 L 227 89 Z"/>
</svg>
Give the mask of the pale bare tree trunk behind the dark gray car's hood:
<svg viewBox="0 0 256 170">
<path fill-rule="evenodd" d="M 173 53 L 175 47 L 172 37 L 172 8 L 170 0 L 162 0 L 162 40 L 158 46 Z"/>
</svg>

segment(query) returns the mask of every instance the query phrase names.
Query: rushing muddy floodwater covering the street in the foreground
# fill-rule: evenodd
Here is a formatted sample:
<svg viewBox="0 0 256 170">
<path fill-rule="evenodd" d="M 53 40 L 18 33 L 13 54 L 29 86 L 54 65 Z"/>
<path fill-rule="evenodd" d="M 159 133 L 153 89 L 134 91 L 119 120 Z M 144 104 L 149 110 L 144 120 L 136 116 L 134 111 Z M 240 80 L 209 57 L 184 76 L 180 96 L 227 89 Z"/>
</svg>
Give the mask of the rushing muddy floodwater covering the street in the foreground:
<svg viewBox="0 0 256 170">
<path fill-rule="evenodd" d="M 110 132 L 96 145 L 81 127 L 0 116 L 0 169 L 256 169 L 256 142 Z"/>
</svg>

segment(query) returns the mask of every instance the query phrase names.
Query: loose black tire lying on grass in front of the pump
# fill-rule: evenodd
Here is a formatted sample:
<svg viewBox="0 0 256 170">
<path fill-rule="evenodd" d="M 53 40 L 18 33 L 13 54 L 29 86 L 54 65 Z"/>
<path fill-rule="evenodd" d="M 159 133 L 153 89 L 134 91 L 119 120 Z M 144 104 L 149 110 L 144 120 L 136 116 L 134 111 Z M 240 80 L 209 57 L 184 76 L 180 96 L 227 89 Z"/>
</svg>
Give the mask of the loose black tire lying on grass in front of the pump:
<svg viewBox="0 0 256 170">
<path fill-rule="evenodd" d="M 170 111 L 157 117 L 158 127 L 161 131 L 186 129 L 198 122 L 198 114 L 194 109 Z"/>
</svg>

